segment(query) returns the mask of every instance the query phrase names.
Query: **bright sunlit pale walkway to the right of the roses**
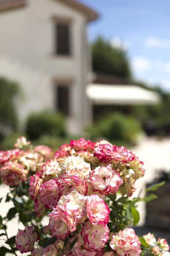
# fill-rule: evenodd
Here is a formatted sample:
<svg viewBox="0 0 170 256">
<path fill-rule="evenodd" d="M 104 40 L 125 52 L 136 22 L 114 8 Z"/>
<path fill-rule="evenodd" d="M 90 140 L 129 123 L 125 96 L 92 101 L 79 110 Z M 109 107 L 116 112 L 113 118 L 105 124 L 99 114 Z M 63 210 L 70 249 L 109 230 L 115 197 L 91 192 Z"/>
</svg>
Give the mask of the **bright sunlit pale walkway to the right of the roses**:
<svg viewBox="0 0 170 256">
<path fill-rule="evenodd" d="M 156 138 L 144 137 L 140 143 L 131 148 L 132 152 L 144 162 L 145 175 L 136 181 L 136 192 L 134 196 L 137 196 L 139 191 L 144 188 L 147 183 L 152 182 L 159 176 L 160 170 L 170 170 L 170 138 L 158 140 Z M 144 225 L 145 222 L 145 203 L 140 202 L 138 210 L 140 212 L 139 225 Z"/>
</svg>

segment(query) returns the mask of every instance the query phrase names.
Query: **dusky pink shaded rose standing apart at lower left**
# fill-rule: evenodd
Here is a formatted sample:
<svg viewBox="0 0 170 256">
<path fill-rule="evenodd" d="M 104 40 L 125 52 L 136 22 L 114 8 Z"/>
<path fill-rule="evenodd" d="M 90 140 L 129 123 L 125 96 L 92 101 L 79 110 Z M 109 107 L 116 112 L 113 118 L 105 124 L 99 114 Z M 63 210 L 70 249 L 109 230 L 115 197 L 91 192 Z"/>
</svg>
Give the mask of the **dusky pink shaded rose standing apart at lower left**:
<svg viewBox="0 0 170 256">
<path fill-rule="evenodd" d="M 24 252 L 31 252 L 34 250 L 33 242 L 39 239 L 37 232 L 33 233 L 33 226 L 25 227 L 25 232 L 18 229 L 15 237 L 16 247 L 23 254 Z"/>
</svg>

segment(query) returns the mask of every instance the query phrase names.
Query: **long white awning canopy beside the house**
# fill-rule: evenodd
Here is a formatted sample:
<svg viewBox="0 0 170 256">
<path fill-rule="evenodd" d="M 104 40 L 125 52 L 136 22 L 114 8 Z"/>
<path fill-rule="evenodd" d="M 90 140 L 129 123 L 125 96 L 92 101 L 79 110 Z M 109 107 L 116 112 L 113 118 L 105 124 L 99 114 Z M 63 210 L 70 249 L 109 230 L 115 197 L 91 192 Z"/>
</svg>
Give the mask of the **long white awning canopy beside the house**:
<svg viewBox="0 0 170 256">
<path fill-rule="evenodd" d="M 87 97 L 100 105 L 150 105 L 158 104 L 160 96 L 137 85 L 89 84 Z"/>
</svg>

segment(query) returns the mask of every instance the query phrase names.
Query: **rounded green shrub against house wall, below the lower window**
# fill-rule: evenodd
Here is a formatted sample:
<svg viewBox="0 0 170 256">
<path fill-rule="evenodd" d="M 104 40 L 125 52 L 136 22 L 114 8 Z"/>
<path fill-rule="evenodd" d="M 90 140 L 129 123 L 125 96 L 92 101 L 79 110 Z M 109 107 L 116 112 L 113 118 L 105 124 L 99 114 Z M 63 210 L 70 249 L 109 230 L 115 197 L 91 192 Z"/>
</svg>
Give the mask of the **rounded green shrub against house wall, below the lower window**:
<svg viewBox="0 0 170 256">
<path fill-rule="evenodd" d="M 49 111 L 32 113 L 26 122 L 26 133 L 30 140 L 42 135 L 64 136 L 64 118 L 60 113 Z"/>
</svg>

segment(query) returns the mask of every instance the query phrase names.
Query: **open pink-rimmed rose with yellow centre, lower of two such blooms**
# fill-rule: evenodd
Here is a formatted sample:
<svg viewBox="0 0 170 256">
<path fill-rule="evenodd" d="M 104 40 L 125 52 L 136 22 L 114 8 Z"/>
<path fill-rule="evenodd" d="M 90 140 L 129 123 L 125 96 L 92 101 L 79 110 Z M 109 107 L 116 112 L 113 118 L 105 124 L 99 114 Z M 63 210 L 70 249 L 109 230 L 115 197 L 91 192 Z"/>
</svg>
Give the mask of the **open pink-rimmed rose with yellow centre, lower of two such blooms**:
<svg viewBox="0 0 170 256">
<path fill-rule="evenodd" d="M 109 206 L 98 195 L 91 195 L 86 200 L 87 217 L 92 224 L 106 225 L 109 221 Z"/>
</svg>

